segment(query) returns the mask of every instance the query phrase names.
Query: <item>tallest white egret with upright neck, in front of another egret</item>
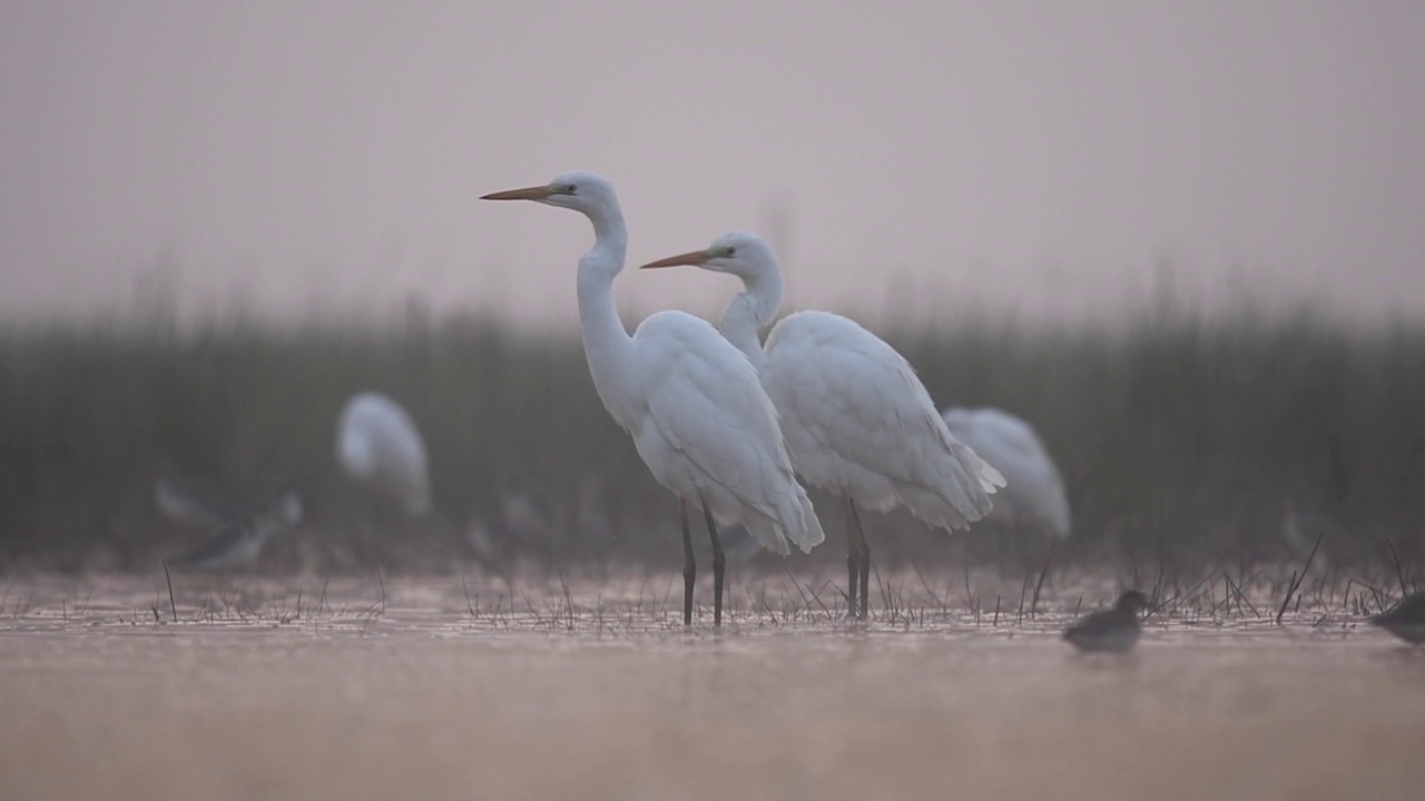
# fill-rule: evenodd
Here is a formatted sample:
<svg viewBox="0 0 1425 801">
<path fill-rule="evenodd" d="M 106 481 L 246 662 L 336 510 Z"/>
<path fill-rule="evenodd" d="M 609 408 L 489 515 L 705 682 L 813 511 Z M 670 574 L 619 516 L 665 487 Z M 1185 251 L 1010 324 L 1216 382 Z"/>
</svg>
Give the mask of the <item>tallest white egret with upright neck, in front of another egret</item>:
<svg viewBox="0 0 1425 801">
<path fill-rule="evenodd" d="M 613 282 L 624 268 L 628 232 L 613 184 L 570 172 L 543 187 L 484 195 L 571 208 L 594 227 L 594 247 L 579 259 L 579 318 L 589 373 L 604 408 L 633 435 L 660 485 L 678 496 L 683 524 L 683 623 L 693 623 L 697 564 L 688 502 L 703 507 L 712 539 L 712 624 L 722 620 L 725 556 L 717 520 L 742 522 L 777 553 L 809 552 L 825 536 L 797 483 L 777 409 L 752 363 L 693 315 L 664 311 L 633 336 L 614 306 Z"/>
</svg>

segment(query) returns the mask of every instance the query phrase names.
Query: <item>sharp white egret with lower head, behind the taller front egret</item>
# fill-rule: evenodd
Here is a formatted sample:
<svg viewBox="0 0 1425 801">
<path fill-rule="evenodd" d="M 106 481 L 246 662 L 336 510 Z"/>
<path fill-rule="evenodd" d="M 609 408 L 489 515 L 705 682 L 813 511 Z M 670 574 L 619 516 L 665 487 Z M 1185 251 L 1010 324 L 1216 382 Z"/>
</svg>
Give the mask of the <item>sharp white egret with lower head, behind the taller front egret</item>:
<svg viewBox="0 0 1425 801">
<path fill-rule="evenodd" d="M 782 319 L 782 277 L 761 237 L 725 234 L 711 247 L 643 265 L 695 265 L 742 279 L 720 331 L 757 365 L 781 413 L 787 449 L 807 482 L 846 500 L 849 607 L 868 609 L 871 547 L 856 509 L 905 506 L 932 526 L 963 529 L 990 510 L 1005 477 L 950 435 L 915 369 L 881 338 L 829 312 Z"/>
</svg>

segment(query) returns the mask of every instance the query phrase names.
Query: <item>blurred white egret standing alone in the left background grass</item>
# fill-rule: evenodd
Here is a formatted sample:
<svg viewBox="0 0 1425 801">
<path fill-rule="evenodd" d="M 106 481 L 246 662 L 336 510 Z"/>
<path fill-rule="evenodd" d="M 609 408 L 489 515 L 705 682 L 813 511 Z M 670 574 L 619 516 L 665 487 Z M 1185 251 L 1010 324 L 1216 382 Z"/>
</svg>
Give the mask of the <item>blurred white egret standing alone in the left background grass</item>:
<svg viewBox="0 0 1425 801">
<path fill-rule="evenodd" d="M 426 443 L 410 413 L 379 392 L 361 392 L 342 406 L 336 460 L 353 482 L 400 503 L 408 515 L 430 512 Z"/>
</svg>

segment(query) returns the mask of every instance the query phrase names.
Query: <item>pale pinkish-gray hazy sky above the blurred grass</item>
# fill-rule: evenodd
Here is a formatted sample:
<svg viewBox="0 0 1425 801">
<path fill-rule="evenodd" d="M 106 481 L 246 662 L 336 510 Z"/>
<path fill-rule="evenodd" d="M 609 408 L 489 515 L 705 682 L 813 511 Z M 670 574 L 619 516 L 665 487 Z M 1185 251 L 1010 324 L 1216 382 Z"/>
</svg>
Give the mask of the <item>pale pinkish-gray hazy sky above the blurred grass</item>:
<svg viewBox="0 0 1425 801">
<path fill-rule="evenodd" d="M 0 0 L 0 314 L 160 261 L 190 308 L 571 319 L 584 221 L 476 198 L 589 168 L 633 261 L 778 234 L 798 306 L 1073 318 L 1170 259 L 1421 315 L 1421 41 L 1412 0 Z"/>
</svg>

